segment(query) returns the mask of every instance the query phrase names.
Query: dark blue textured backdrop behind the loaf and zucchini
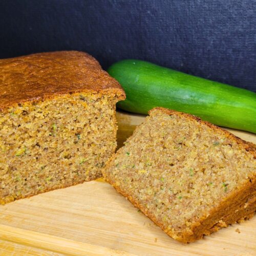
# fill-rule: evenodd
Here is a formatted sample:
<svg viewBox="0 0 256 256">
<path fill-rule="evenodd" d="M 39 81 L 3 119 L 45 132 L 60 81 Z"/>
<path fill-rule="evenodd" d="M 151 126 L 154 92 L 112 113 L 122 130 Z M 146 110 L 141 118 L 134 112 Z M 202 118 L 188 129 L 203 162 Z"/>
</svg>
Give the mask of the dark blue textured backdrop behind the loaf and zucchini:
<svg viewBox="0 0 256 256">
<path fill-rule="evenodd" d="M 256 91 L 255 0 L 2 0 L 0 58 L 81 50 Z"/>
</svg>

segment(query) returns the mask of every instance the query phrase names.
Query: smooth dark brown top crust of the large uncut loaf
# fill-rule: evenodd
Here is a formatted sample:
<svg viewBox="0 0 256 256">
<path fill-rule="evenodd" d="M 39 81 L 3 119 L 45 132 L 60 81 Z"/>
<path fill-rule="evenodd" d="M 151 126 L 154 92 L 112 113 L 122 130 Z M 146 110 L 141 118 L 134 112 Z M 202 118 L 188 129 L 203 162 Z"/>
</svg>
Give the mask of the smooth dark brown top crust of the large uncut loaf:
<svg viewBox="0 0 256 256">
<path fill-rule="evenodd" d="M 125 93 L 88 53 L 59 51 L 0 59 L 0 110 L 67 93 Z"/>
</svg>

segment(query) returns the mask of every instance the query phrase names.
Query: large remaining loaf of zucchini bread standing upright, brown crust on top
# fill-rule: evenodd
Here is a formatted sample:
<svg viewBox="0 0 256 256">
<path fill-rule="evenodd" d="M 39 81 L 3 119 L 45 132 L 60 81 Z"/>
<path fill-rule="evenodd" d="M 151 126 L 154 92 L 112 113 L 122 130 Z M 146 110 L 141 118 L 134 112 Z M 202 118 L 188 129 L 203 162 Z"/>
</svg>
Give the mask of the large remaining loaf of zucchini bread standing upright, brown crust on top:
<svg viewBox="0 0 256 256">
<path fill-rule="evenodd" d="M 100 177 L 124 98 L 87 53 L 0 60 L 0 203 Z"/>
</svg>

